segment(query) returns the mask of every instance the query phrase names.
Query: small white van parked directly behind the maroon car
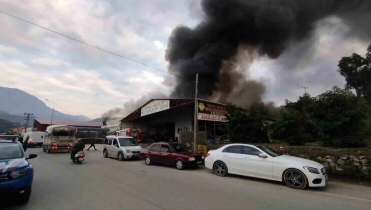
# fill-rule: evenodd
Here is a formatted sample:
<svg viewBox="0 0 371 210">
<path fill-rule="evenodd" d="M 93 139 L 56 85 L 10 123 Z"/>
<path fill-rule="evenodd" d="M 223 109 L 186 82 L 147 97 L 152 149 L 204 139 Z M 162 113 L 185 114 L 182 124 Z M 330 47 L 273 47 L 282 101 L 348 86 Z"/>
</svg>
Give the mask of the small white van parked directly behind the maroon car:
<svg viewBox="0 0 371 210">
<path fill-rule="evenodd" d="M 133 137 L 121 135 L 107 135 L 103 144 L 103 156 L 115 157 L 118 160 L 139 157 L 142 147 Z"/>
</svg>

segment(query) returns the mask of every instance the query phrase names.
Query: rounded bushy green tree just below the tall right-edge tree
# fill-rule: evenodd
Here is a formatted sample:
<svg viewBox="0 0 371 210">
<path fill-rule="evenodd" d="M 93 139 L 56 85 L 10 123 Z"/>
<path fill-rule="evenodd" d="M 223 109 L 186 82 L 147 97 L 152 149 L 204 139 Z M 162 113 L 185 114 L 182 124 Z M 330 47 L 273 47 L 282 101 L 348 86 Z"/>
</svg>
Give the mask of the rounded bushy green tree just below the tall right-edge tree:
<svg viewBox="0 0 371 210">
<path fill-rule="evenodd" d="M 348 88 L 334 86 L 318 96 L 314 117 L 318 135 L 327 146 L 362 145 L 370 128 L 369 103 Z"/>
</svg>

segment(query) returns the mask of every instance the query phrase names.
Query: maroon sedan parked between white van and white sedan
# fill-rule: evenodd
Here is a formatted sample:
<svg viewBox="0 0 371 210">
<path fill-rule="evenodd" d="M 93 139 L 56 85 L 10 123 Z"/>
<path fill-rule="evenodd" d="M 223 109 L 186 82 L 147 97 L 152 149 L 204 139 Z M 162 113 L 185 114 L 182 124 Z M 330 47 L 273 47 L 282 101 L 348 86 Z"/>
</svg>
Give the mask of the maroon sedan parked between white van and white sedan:
<svg viewBox="0 0 371 210">
<path fill-rule="evenodd" d="M 188 151 L 183 144 L 171 142 L 152 143 L 140 150 L 140 155 L 144 157 L 147 165 L 152 163 L 175 165 L 179 170 L 197 167 L 205 161 L 204 155 Z"/>
</svg>

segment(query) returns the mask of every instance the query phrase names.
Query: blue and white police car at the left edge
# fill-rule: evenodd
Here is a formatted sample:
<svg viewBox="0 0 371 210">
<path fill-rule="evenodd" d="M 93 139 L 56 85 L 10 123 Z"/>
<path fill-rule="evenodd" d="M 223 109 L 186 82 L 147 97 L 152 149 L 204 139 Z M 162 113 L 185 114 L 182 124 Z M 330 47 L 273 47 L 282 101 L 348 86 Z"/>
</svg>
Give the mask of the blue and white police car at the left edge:
<svg viewBox="0 0 371 210">
<path fill-rule="evenodd" d="M 10 196 L 19 203 L 30 199 L 34 169 L 19 141 L 0 140 L 0 197 Z"/>
</svg>

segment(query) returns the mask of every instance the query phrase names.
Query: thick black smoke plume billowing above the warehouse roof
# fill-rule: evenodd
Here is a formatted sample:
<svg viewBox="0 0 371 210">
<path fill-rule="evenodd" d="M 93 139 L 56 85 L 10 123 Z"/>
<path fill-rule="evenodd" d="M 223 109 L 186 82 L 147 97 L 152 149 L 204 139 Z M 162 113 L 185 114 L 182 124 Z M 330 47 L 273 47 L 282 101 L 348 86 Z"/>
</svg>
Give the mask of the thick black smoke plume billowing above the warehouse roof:
<svg viewBox="0 0 371 210">
<path fill-rule="evenodd" d="M 265 85 L 236 69 L 241 51 L 277 58 L 330 15 L 358 36 L 371 34 L 371 0 L 201 0 L 201 7 L 204 21 L 195 28 L 178 26 L 169 37 L 168 71 L 186 78 L 176 78 L 170 97 L 194 97 L 199 73 L 200 97 L 243 106 L 259 102 Z"/>
</svg>

